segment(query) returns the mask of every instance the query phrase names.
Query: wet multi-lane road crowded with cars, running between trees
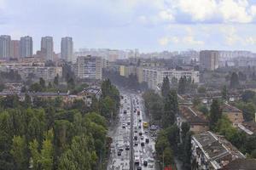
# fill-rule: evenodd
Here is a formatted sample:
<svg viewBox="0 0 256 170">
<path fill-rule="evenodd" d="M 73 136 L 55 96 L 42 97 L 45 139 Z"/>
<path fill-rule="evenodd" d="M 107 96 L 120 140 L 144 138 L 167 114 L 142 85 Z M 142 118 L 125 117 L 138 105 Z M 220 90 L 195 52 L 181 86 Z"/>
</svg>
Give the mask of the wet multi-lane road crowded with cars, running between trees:
<svg viewBox="0 0 256 170">
<path fill-rule="evenodd" d="M 154 138 L 148 127 L 140 94 L 121 93 L 119 121 L 108 133 L 113 139 L 108 170 L 153 170 Z"/>
</svg>

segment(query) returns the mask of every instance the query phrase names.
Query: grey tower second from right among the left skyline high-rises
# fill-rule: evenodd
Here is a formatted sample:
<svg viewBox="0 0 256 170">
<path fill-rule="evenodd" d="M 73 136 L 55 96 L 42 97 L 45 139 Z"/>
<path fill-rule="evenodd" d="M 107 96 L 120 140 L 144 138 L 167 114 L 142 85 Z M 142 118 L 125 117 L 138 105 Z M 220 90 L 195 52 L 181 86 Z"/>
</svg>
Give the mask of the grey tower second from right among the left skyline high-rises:
<svg viewBox="0 0 256 170">
<path fill-rule="evenodd" d="M 44 54 L 46 60 L 53 60 L 54 42 L 53 37 L 42 37 L 41 53 Z"/>
</svg>

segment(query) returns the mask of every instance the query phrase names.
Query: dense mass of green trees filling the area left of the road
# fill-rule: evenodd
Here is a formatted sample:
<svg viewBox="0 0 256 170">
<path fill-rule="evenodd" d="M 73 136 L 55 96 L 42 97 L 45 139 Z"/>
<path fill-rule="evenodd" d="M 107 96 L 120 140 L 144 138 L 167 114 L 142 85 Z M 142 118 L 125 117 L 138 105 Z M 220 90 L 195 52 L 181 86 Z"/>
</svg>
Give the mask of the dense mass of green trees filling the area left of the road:
<svg viewBox="0 0 256 170">
<path fill-rule="evenodd" d="M 104 169 L 111 143 L 106 108 L 118 107 L 119 91 L 109 80 L 101 102 L 93 100 L 90 108 L 80 101 L 63 105 L 61 98 L 0 99 L 0 169 Z"/>
</svg>

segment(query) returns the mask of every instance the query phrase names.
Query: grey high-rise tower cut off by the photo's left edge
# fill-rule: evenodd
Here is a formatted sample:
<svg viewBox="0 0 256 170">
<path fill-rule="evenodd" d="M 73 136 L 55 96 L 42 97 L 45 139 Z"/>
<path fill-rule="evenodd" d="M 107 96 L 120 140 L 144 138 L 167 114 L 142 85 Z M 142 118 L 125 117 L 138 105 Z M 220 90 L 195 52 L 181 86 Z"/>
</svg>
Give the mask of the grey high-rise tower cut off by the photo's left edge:
<svg viewBox="0 0 256 170">
<path fill-rule="evenodd" d="M 7 35 L 0 36 L 0 59 L 10 57 L 11 37 Z"/>
</svg>

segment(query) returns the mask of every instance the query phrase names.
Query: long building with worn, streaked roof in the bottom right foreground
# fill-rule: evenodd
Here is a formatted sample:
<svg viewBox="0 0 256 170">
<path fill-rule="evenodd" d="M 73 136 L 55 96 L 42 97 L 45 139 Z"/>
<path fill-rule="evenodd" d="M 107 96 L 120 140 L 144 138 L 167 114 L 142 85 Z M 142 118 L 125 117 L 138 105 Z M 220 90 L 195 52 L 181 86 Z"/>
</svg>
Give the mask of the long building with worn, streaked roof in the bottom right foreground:
<svg viewBox="0 0 256 170">
<path fill-rule="evenodd" d="M 246 158 L 223 136 L 209 131 L 193 135 L 191 144 L 191 169 L 217 170 L 231 161 Z"/>
</svg>

